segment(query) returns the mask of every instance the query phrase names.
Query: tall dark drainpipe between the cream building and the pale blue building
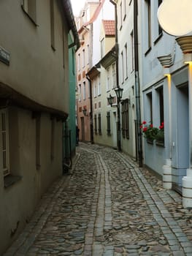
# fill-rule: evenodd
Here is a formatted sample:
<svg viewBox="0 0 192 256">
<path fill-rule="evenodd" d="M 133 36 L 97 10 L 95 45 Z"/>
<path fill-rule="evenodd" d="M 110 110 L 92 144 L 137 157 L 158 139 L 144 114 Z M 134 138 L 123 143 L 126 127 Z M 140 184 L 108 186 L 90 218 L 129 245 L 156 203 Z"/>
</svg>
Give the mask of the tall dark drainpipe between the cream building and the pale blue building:
<svg viewBox="0 0 192 256">
<path fill-rule="evenodd" d="M 141 106 L 140 106 L 140 86 L 139 86 L 139 49 L 138 49 L 138 3 L 134 0 L 134 69 L 135 69 L 135 98 L 136 98 L 136 125 L 137 125 L 137 150 L 139 154 L 139 167 L 142 167 L 142 133 Z"/>
</svg>

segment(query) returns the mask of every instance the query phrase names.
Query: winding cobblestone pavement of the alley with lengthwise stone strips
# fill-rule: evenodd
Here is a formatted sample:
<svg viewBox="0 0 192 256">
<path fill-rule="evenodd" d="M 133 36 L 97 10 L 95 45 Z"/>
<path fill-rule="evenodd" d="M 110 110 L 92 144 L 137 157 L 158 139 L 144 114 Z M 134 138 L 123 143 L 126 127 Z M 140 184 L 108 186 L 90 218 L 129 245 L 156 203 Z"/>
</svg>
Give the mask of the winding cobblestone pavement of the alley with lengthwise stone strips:
<svg viewBox="0 0 192 256">
<path fill-rule="evenodd" d="M 112 148 L 80 143 L 4 256 L 192 255 L 192 210 Z"/>
</svg>

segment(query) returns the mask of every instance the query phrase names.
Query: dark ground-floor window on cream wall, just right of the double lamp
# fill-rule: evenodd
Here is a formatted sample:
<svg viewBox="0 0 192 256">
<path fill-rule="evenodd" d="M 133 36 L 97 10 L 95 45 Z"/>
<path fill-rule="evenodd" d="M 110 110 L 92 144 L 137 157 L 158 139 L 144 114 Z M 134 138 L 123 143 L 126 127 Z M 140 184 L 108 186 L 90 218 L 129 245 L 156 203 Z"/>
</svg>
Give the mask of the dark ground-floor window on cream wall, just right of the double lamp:
<svg viewBox="0 0 192 256">
<path fill-rule="evenodd" d="M 128 99 L 124 99 L 122 104 L 122 135 L 123 138 L 129 138 L 129 121 L 128 121 Z"/>
</svg>

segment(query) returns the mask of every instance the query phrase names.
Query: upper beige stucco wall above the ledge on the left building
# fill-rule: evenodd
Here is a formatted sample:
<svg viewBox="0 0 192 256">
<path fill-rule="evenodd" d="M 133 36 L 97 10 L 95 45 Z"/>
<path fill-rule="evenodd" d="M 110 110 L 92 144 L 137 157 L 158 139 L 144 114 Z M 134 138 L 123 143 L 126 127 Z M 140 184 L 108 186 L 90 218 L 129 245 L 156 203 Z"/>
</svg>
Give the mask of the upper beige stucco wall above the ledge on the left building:
<svg viewBox="0 0 192 256">
<path fill-rule="evenodd" d="M 20 0 L 1 1 L 0 45 L 9 51 L 11 59 L 9 66 L 0 62 L 0 82 L 42 105 L 68 112 L 69 98 L 63 100 L 68 95 L 68 70 L 64 69 L 63 59 L 65 56 L 68 60 L 67 31 L 63 54 L 63 25 L 57 1 L 54 1 L 55 51 L 50 45 L 50 1 L 37 1 L 37 26 L 20 3 Z"/>
</svg>

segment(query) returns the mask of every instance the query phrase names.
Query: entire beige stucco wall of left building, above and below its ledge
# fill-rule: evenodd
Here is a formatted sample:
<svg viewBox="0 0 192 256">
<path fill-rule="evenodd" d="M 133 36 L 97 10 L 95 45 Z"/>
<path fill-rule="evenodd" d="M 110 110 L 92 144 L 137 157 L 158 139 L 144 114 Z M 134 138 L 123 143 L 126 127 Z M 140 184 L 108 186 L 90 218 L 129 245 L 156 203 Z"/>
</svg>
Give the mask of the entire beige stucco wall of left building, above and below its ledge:
<svg viewBox="0 0 192 256">
<path fill-rule="evenodd" d="M 68 28 L 66 20 L 62 20 L 59 1 L 53 2 L 55 50 L 50 42 L 49 0 L 37 1 L 37 26 L 23 11 L 20 0 L 1 1 L 0 46 L 10 53 L 10 63 L 8 66 L 0 61 L 0 83 L 41 105 L 69 113 Z M 9 107 L 8 112 L 9 169 L 12 176 L 21 179 L 4 187 L 0 152 L 0 255 L 23 230 L 43 193 L 62 175 L 63 123 L 55 120 L 54 158 L 51 159 L 50 114 L 41 113 L 37 170 L 36 119 L 30 110 L 23 108 Z"/>
</svg>

